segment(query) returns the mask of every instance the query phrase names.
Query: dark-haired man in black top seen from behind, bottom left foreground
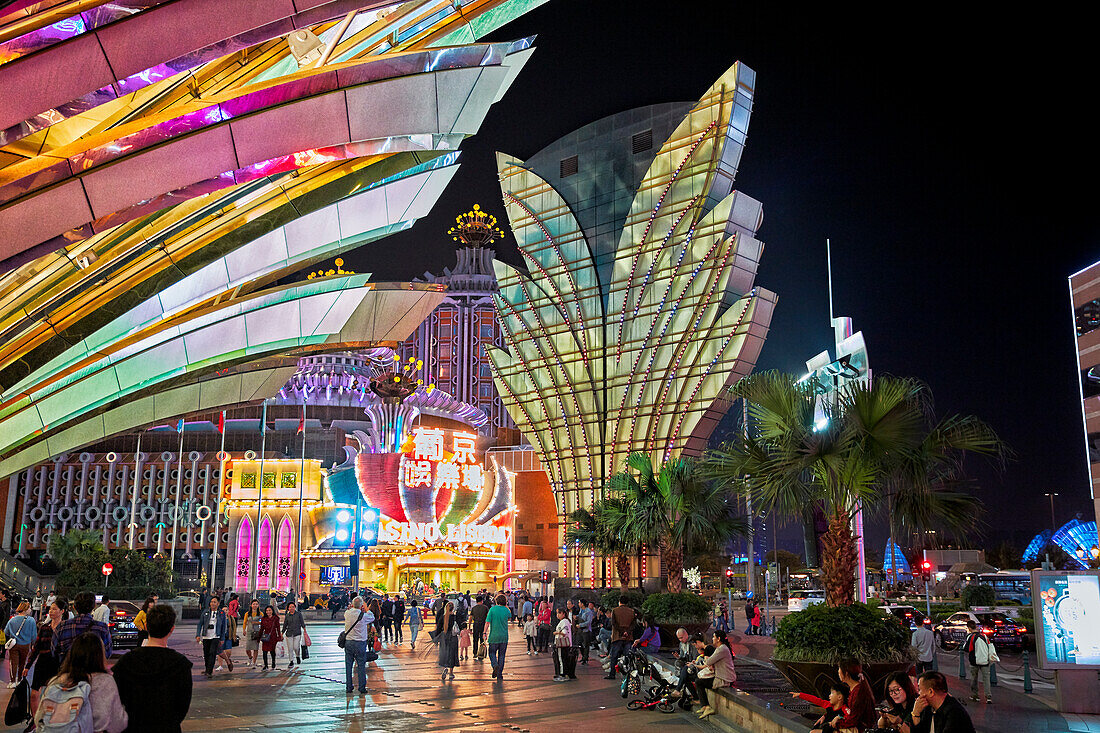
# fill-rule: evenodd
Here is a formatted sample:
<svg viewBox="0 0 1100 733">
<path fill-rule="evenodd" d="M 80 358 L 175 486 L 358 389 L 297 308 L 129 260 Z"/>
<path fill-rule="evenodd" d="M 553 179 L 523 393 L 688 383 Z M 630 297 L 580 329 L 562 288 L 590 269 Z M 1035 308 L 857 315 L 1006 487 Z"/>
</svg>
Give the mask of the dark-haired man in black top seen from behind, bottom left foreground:
<svg viewBox="0 0 1100 733">
<path fill-rule="evenodd" d="M 125 733 L 180 733 L 191 705 L 191 663 L 168 648 L 176 627 L 173 608 L 154 604 L 146 616 L 145 645 L 124 654 L 111 670 L 130 716 Z"/>
</svg>

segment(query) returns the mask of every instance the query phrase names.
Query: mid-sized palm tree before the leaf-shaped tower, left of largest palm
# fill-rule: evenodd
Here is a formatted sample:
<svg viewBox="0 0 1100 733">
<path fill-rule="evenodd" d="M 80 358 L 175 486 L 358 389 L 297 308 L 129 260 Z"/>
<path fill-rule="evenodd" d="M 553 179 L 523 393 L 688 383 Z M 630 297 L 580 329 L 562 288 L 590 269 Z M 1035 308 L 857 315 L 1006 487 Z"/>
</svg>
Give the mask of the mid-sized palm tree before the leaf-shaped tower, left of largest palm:
<svg viewBox="0 0 1100 733">
<path fill-rule="evenodd" d="M 737 516 L 736 503 L 703 481 L 690 459 L 666 461 L 654 471 L 649 453 L 632 452 L 607 489 L 622 500 L 608 504 L 603 513 L 610 533 L 630 546 L 656 547 L 673 593 L 683 588 L 685 550 L 716 551 L 747 530 L 745 521 Z"/>
</svg>

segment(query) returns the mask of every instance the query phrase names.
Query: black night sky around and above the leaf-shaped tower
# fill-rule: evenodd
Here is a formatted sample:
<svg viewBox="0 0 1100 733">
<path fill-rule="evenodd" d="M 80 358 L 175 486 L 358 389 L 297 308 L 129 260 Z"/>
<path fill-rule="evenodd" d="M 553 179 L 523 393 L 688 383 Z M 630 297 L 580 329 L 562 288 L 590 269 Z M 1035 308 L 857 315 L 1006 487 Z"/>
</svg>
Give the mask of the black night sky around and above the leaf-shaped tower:
<svg viewBox="0 0 1100 733">
<path fill-rule="evenodd" d="M 757 284 L 779 294 L 758 369 L 801 373 L 832 347 L 829 238 L 836 314 L 872 370 L 924 380 L 941 415 L 978 415 L 1015 451 L 974 472 L 978 541 L 1022 549 L 1049 525 L 1044 492 L 1059 525 L 1093 518 L 1067 286 L 1100 260 L 1092 43 L 1081 19 L 1007 7 L 846 8 L 551 0 L 490 39 L 537 34 L 537 51 L 432 216 L 345 259 L 375 280 L 441 272 L 455 214 L 479 203 L 507 231 L 494 151 L 526 158 L 602 117 L 693 101 L 739 59 L 757 88 L 737 188 L 763 203 Z M 510 232 L 497 252 L 519 263 Z"/>
</svg>

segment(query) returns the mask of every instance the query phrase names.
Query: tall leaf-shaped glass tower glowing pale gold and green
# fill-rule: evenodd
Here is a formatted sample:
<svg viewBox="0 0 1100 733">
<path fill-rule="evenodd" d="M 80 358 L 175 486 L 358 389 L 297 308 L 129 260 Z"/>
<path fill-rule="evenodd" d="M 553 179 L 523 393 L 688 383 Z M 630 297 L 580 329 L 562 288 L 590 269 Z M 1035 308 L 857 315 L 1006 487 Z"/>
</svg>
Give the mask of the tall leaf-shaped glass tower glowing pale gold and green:
<svg viewBox="0 0 1100 733">
<path fill-rule="evenodd" d="M 733 187 L 755 76 L 736 64 L 694 105 L 615 114 L 527 161 L 498 154 L 525 267 L 495 263 L 504 343 L 488 355 L 549 474 L 559 545 L 631 451 L 698 453 L 763 344 L 762 209 Z M 559 559 L 575 584 L 614 578 L 605 558 Z M 660 576 L 656 556 L 638 566 Z"/>
</svg>

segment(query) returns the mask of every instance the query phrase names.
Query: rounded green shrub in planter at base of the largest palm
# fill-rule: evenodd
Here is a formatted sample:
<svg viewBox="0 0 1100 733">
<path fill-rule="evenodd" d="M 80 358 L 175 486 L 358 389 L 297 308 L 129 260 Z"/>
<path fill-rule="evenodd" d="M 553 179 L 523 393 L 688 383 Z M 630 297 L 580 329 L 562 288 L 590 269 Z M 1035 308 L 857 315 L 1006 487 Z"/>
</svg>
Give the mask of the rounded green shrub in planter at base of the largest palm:
<svg viewBox="0 0 1100 733">
<path fill-rule="evenodd" d="M 779 622 L 774 657 L 832 665 L 848 657 L 861 664 L 910 661 L 909 636 L 898 619 L 862 603 L 836 608 L 817 603 Z"/>
</svg>

